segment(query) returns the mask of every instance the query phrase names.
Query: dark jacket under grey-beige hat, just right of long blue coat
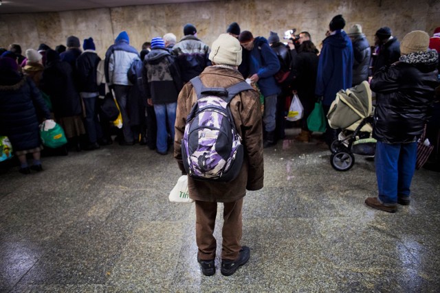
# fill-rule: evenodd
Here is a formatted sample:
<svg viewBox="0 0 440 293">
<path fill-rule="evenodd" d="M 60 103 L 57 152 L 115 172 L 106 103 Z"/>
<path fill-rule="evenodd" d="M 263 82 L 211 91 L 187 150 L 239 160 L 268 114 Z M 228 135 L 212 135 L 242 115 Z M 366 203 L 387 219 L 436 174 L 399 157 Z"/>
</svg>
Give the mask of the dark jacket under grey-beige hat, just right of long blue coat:
<svg viewBox="0 0 440 293">
<path fill-rule="evenodd" d="M 353 55 L 353 86 L 357 86 L 364 80 L 369 80 L 371 47 L 364 34 L 353 40 Z"/>
</svg>

